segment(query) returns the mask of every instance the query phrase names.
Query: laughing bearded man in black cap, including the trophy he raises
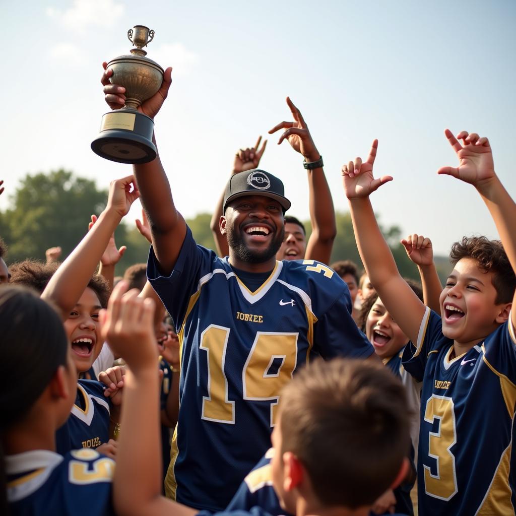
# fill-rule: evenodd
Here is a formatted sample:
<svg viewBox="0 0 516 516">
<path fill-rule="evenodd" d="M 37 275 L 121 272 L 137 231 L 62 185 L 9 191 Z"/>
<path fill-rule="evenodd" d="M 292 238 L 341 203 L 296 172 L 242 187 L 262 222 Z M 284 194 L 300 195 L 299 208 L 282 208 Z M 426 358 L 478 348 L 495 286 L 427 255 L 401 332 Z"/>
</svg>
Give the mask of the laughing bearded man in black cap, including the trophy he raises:
<svg viewBox="0 0 516 516">
<path fill-rule="evenodd" d="M 140 58 L 131 66 L 140 76 L 133 83 L 143 84 L 146 73 L 139 67 L 154 71 L 156 63 Z M 280 391 L 292 375 L 314 355 L 367 358 L 374 352 L 351 318 L 346 284 L 331 269 L 312 260 L 276 261 L 291 203 L 272 174 L 255 169 L 229 181 L 220 217 L 229 257 L 196 245 L 175 208 L 157 151 L 153 155 L 143 141 L 149 135 L 145 130 L 153 127 L 146 125 L 147 118 L 152 122 L 167 98 L 172 69 L 131 108 L 133 83 L 122 86 L 122 73 L 113 66 L 131 59 L 104 63 L 102 84 L 111 109 L 125 105 L 127 115 L 136 112 L 135 120 L 105 115 L 92 148 L 134 164 L 152 230 L 147 275 L 180 338 L 180 411 L 167 496 L 220 511 L 270 446 Z M 140 130 L 138 115 L 144 117 Z M 151 143 L 156 145 L 153 134 Z"/>
</svg>

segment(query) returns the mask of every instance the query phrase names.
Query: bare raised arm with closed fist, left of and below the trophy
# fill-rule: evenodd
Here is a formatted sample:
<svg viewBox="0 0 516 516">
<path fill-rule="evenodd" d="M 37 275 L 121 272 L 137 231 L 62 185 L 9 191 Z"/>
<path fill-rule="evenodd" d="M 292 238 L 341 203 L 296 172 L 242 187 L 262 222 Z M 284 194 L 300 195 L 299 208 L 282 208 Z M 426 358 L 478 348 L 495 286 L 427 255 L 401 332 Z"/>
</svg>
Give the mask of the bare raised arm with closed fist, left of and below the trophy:
<svg viewBox="0 0 516 516">
<path fill-rule="evenodd" d="M 68 318 L 87 287 L 115 228 L 139 197 L 136 186 L 130 191 L 131 185 L 134 186 L 132 175 L 111 182 L 106 209 L 44 289 L 41 297 L 52 300 L 59 307 L 63 320 Z"/>
</svg>

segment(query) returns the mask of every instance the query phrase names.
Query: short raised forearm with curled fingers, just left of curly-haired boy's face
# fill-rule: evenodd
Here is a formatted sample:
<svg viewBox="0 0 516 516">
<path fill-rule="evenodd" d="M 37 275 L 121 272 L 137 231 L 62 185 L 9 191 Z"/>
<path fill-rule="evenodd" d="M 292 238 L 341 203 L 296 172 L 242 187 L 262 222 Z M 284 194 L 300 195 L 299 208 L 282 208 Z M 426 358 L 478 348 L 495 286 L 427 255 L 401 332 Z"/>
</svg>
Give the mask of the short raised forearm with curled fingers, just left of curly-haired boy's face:
<svg viewBox="0 0 516 516">
<path fill-rule="evenodd" d="M 423 286 L 423 301 L 434 312 L 441 313 L 439 296 L 443 286 L 437 273 L 436 264 L 433 261 L 432 243 L 430 238 L 422 235 L 409 235 L 401 240 L 405 247 L 409 260 L 417 265 Z"/>
</svg>

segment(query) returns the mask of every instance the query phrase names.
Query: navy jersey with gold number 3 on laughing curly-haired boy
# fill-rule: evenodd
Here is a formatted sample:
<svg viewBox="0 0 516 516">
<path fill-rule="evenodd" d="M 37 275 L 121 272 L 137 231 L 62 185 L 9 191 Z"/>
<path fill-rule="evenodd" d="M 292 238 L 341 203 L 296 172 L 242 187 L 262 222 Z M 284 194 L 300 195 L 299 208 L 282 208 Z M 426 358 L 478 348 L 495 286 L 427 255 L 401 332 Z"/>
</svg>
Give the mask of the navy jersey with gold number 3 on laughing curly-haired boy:
<svg viewBox="0 0 516 516">
<path fill-rule="evenodd" d="M 423 379 L 418 453 L 418 511 L 514 514 L 510 477 L 516 402 L 516 338 L 509 321 L 466 353 L 427 308 L 403 364 Z"/>
</svg>

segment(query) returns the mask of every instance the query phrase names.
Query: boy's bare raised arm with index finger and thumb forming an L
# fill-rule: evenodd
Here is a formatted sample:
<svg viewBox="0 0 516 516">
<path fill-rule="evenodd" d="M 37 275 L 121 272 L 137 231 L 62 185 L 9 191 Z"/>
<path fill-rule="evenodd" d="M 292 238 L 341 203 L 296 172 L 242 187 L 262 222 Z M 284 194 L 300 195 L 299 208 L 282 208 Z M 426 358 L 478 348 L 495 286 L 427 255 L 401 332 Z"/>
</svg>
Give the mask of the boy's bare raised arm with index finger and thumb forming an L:
<svg viewBox="0 0 516 516">
<path fill-rule="evenodd" d="M 371 193 L 392 180 L 390 175 L 377 179 L 373 176 L 377 148 L 378 140 L 375 140 L 366 162 L 362 163 L 362 159 L 358 157 L 354 163 L 349 162 L 342 167 L 344 191 L 349 201 L 354 235 L 367 276 L 399 327 L 412 342 L 417 342 L 425 305 L 400 276 L 369 201 Z"/>
</svg>

